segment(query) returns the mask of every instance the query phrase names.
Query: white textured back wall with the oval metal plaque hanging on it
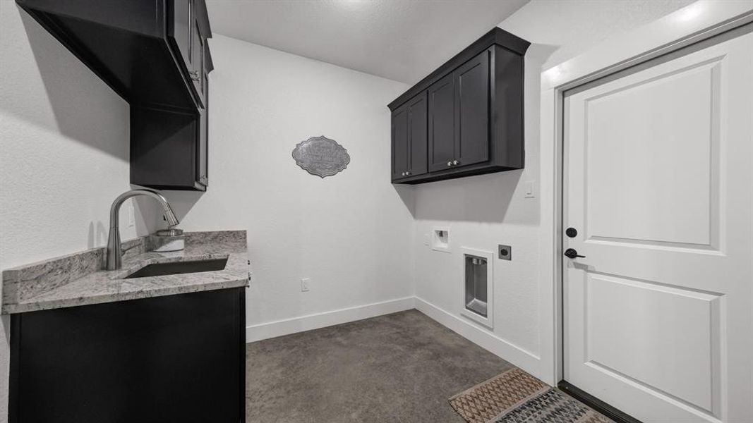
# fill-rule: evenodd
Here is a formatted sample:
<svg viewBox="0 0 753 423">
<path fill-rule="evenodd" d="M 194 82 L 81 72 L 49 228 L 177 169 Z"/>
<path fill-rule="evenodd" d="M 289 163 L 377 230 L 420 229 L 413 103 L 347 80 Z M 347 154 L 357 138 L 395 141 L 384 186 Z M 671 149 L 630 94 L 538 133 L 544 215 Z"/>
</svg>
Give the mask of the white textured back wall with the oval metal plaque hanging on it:
<svg viewBox="0 0 753 423">
<path fill-rule="evenodd" d="M 210 46 L 209 190 L 166 196 L 184 230 L 248 230 L 249 339 L 310 327 L 270 322 L 412 297 L 413 217 L 389 181 L 386 107 L 407 86 L 222 35 Z M 291 157 L 319 135 L 351 157 L 325 179 Z"/>
</svg>

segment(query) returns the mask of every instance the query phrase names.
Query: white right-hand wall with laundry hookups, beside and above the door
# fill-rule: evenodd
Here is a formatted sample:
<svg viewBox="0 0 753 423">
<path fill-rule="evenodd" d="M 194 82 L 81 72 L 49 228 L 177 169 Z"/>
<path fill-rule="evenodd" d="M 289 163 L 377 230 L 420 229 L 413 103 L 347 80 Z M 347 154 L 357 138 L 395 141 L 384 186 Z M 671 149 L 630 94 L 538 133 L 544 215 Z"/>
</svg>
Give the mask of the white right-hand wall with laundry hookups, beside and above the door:
<svg viewBox="0 0 753 423">
<path fill-rule="evenodd" d="M 441 181 L 416 187 L 416 297 L 418 306 L 503 358 L 541 374 L 538 255 L 541 199 L 539 98 L 541 70 L 570 59 L 615 35 L 635 29 L 690 4 L 677 1 L 533 0 L 499 26 L 528 41 L 526 53 L 526 169 Z M 533 183 L 535 198 L 526 198 Z M 452 254 L 431 251 L 425 236 L 434 226 L 450 227 Z M 513 260 L 494 263 L 494 327 L 486 330 L 460 315 L 460 247 L 496 251 L 511 245 Z"/>
</svg>

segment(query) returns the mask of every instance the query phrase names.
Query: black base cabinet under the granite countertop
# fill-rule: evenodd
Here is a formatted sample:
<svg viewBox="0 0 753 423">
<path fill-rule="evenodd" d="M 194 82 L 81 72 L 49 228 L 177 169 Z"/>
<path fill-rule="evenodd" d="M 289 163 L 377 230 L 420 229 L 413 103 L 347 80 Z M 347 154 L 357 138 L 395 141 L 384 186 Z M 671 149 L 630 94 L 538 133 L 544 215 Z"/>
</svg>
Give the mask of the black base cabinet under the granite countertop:
<svg viewBox="0 0 753 423">
<path fill-rule="evenodd" d="M 244 288 L 11 315 L 11 423 L 244 421 Z"/>
</svg>

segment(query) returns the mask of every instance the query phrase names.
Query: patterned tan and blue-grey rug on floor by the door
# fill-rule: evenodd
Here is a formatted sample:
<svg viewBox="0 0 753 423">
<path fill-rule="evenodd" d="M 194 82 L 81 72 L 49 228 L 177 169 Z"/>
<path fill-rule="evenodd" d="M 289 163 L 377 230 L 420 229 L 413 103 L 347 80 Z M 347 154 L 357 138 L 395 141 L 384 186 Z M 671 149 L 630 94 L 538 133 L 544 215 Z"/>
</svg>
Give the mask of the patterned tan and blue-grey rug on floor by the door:
<svg viewBox="0 0 753 423">
<path fill-rule="evenodd" d="M 611 423 L 520 369 L 457 394 L 450 405 L 468 423 Z"/>
</svg>

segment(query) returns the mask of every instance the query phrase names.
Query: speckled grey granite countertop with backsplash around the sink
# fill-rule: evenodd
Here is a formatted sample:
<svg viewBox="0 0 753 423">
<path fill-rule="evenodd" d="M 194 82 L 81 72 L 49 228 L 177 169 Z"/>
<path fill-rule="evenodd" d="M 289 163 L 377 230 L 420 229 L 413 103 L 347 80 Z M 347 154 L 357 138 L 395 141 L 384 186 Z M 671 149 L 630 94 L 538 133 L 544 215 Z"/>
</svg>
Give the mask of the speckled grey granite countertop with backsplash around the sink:
<svg viewBox="0 0 753 423">
<path fill-rule="evenodd" d="M 245 231 L 185 233 L 183 251 L 151 251 L 154 237 L 123 243 L 123 268 L 102 270 L 105 249 L 56 257 L 4 270 L 2 314 L 112 303 L 163 295 L 248 286 Z M 152 263 L 227 258 L 223 270 L 125 279 Z"/>
</svg>

